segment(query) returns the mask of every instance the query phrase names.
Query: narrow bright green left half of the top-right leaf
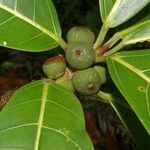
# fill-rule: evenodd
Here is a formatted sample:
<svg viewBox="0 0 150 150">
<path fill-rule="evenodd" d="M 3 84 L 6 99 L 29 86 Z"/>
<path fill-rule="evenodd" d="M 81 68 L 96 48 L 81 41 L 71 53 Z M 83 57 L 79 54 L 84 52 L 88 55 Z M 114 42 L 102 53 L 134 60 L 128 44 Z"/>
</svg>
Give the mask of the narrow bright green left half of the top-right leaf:
<svg viewBox="0 0 150 150">
<path fill-rule="evenodd" d="M 99 0 L 100 14 L 101 14 L 103 23 L 106 21 L 115 2 L 116 0 Z"/>
</svg>

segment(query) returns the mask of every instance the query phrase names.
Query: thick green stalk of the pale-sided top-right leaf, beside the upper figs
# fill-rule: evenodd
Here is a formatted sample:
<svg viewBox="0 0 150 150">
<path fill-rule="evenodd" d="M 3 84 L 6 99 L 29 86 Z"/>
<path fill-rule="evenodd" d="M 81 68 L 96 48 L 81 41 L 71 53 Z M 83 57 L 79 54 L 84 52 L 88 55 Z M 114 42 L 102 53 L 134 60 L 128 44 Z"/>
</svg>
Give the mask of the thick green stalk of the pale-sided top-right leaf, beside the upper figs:
<svg viewBox="0 0 150 150">
<path fill-rule="evenodd" d="M 108 32 L 108 29 L 109 28 L 105 24 L 102 25 L 102 28 L 101 28 L 101 30 L 99 32 L 97 40 L 94 43 L 94 49 L 96 49 L 97 47 L 99 47 L 103 43 L 103 41 L 105 39 L 105 36 L 106 36 L 106 34 Z"/>
</svg>

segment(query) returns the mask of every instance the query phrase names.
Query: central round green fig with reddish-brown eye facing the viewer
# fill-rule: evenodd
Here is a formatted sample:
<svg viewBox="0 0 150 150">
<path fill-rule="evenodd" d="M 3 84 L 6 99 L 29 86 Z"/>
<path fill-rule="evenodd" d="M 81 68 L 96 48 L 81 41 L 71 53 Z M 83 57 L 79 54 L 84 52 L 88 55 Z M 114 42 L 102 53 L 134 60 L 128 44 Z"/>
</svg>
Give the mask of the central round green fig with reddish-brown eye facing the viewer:
<svg viewBox="0 0 150 150">
<path fill-rule="evenodd" d="M 68 64 L 76 69 L 90 67 L 95 61 L 95 52 L 91 44 L 83 42 L 69 43 L 66 50 Z"/>
</svg>

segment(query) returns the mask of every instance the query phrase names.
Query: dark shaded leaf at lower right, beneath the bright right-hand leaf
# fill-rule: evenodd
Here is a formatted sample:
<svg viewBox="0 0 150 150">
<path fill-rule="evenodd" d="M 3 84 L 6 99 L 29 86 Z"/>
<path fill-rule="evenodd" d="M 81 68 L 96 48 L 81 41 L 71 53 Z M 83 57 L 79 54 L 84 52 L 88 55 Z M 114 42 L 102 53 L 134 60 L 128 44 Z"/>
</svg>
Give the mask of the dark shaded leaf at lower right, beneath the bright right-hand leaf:
<svg viewBox="0 0 150 150">
<path fill-rule="evenodd" d="M 119 98 L 120 95 L 114 96 L 114 99 L 110 101 L 112 107 L 115 109 L 116 113 L 120 117 L 121 121 L 128 128 L 132 134 L 137 148 L 139 150 L 147 150 L 150 147 L 150 136 L 144 129 L 141 122 L 138 120 L 135 113 L 132 111 L 131 107 L 123 98 Z M 142 138 L 141 138 L 142 136 Z"/>
</svg>

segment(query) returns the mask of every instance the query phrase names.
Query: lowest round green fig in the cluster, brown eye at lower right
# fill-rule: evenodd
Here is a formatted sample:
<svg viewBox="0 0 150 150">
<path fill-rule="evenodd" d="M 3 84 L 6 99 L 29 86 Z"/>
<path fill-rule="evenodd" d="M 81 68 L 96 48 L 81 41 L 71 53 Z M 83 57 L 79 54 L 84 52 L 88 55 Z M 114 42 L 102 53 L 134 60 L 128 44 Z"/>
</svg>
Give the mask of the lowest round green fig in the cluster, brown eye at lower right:
<svg viewBox="0 0 150 150">
<path fill-rule="evenodd" d="M 72 83 L 77 92 L 83 95 L 92 95 L 98 92 L 101 79 L 94 68 L 76 71 L 72 77 Z"/>
</svg>

